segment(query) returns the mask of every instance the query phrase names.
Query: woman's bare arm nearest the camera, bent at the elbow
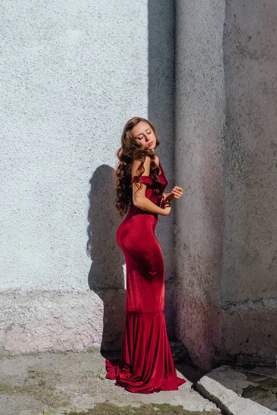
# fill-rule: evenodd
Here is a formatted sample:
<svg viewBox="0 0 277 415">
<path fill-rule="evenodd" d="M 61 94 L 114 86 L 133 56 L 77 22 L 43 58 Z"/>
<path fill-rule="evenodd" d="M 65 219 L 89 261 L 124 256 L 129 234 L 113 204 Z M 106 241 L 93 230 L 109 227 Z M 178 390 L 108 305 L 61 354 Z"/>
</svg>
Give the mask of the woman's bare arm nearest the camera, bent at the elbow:
<svg viewBox="0 0 277 415">
<path fill-rule="evenodd" d="M 137 176 L 139 173 L 138 168 L 141 165 L 141 160 L 134 160 L 132 164 L 132 176 Z M 143 172 L 142 176 L 149 176 L 150 174 L 150 157 L 146 156 L 145 162 L 143 163 L 143 167 L 145 171 Z M 141 190 L 139 190 L 139 187 Z M 145 196 L 146 185 L 143 183 L 133 183 L 132 185 L 133 190 L 133 203 L 134 205 L 141 209 L 145 210 L 146 212 L 152 212 L 161 214 L 162 216 L 167 216 L 170 213 L 171 205 L 168 203 L 165 208 L 159 208 L 159 206 L 155 205 L 150 199 Z"/>
</svg>

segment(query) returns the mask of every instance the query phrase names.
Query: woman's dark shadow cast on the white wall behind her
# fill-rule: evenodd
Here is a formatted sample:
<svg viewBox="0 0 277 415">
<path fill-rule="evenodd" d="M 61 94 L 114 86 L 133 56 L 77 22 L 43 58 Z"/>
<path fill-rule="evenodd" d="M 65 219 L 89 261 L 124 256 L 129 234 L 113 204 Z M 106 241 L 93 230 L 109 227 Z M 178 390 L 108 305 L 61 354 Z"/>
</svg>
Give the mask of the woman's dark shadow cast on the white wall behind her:
<svg viewBox="0 0 277 415">
<path fill-rule="evenodd" d="M 89 288 L 103 302 L 101 351 L 120 351 L 125 318 L 125 258 L 116 242 L 116 230 L 122 219 L 115 206 L 115 169 L 102 165 L 89 181 L 87 253 L 91 257 Z M 99 328 L 102 329 L 102 328 Z"/>
</svg>

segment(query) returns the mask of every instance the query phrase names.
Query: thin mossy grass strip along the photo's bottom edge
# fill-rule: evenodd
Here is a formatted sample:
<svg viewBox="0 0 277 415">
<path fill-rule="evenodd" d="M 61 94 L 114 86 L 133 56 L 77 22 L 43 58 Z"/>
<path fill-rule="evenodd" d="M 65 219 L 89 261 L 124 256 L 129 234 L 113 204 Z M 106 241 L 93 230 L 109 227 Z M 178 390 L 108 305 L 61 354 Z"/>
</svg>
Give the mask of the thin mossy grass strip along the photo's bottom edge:
<svg viewBox="0 0 277 415">
<path fill-rule="evenodd" d="M 220 415 L 216 411 L 187 411 L 181 405 L 168 403 L 149 403 L 140 407 L 117 407 L 111 403 L 98 403 L 93 409 L 86 412 L 64 412 L 64 415 Z"/>
</svg>

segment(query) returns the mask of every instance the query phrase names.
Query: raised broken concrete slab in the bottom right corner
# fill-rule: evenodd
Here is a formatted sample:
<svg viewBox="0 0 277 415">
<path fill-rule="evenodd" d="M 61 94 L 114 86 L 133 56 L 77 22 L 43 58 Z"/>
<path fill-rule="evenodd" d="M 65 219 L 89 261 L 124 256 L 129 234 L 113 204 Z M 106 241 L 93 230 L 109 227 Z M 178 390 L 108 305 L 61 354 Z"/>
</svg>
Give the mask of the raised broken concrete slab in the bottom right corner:
<svg viewBox="0 0 277 415">
<path fill-rule="evenodd" d="M 265 407 L 255 400 L 242 397 L 244 389 L 247 389 L 249 385 L 255 385 L 258 394 L 258 382 L 266 378 L 266 376 L 256 374 L 257 380 L 253 377 L 249 380 L 247 373 L 251 374 L 243 369 L 233 369 L 223 365 L 198 380 L 195 388 L 228 415 L 276 415 L 274 410 L 269 409 L 270 406 L 274 407 L 274 400 L 271 400 L 274 398 L 265 402 L 269 406 Z M 255 399 L 255 396 L 253 398 Z"/>
</svg>

